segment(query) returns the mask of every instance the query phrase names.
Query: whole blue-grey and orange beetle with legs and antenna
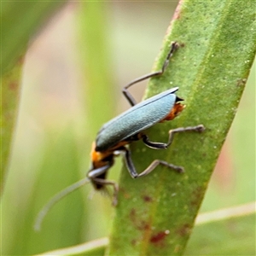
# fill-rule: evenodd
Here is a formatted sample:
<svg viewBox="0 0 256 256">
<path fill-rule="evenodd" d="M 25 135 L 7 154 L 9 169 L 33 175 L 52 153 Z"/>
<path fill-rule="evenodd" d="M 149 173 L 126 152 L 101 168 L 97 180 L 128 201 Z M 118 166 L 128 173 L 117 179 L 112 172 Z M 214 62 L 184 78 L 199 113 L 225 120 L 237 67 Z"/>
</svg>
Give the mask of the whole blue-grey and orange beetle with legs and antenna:
<svg viewBox="0 0 256 256">
<path fill-rule="evenodd" d="M 77 183 L 73 183 L 71 186 L 67 187 L 67 189 L 62 190 L 44 206 L 36 219 L 35 230 L 40 229 L 44 216 L 57 201 L 71 193 L 73 190 L 79 189 L 79 187 L 84 185 L 84 183 L 92 183 L 95 189 L 104 189 L 107 185 L 112 185 L 113 205 L 116 205 L 119 188 L 116 183 L 107 179 L 107 174 L 108 169 L 113 166 L 114 158 L 120 153 L 124 155 L 127 170 L 131 174 L 131 177 L 134 178 L 147 175 L 158 165 L 170 167 L 176 172 L 183 172 L 182 166 L 174 166 L 163 160 L 153 160 L 143 172 L 138 173 L 131 160 L 131 152 L 129 148 L 126 147 L 134 141 L 143 140 L 143 143 L 149 148 L 164 149 L 171 145 L 173 135 L 177 132 L 201 132 L 205 130 L 203 125 L 181 127 L 169 131 L 167 143 L 151 142 L 143 131 L 156 123 L 172 120 L 183 111 L 184 106 L 181 104 L 183 99 L 179 98 L 175 94 L 178 88 L 176 87 L 166 90 L 140 103 L 137 103 L 133 96 L 131 96 L 131 93 L 127 90 L 133 84 L 162 75 L 177 47 L 178 44 L 176 42 L 171 44 L 169 53 L 166 56 L 166 61 L 160 71 L 146 74 L 141 78 L 131 81 L 130 84 L 125 86 L 123 94 L 127 101 L 130 102 L 131 108 L 102 126 L 102 129 L 96 136 L 96 141 L 92 143 L 90 153 L 91 167 L 87 177 Z"/>
</svg>

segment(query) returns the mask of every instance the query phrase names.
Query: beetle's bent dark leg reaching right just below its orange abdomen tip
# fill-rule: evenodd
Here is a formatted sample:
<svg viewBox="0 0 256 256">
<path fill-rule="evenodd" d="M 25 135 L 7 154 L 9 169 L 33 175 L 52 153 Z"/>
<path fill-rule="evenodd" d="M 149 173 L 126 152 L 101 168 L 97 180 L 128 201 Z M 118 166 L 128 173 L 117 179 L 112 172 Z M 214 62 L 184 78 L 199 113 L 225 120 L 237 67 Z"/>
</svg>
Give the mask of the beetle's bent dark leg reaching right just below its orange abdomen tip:
<svg viewBox="0 0 256 256">
<path fill-rule="evenodd" d="M 202 132 L 202 131 L 205 131 L 205 127 L 204 127 L 204 125 L 196 125 L 196 126 L 189 126 L 189 127 L 179 127 L 179 128 L 170 130 L 167 143 L 154 143 L 154 142 L 149 141 L 149 139 L 146 135 L 143 135 L 143 143 L 145 143 L 149 148 L 166 149 L 172 144 L 174 134 L 177 132 L 183 132 L 183 131 Z"/>
</svg>

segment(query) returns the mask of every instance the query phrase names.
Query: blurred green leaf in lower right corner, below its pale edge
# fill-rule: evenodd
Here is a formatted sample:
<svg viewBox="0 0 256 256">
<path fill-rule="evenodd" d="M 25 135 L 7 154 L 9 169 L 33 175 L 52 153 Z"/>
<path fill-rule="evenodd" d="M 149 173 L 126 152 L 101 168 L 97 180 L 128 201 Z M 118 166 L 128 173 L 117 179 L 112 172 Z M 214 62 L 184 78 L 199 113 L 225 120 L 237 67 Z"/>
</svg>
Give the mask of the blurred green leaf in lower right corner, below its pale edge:
<svg viewBox="0 0 256 256">
<path fill-rule="evenodd" d="M 254 227 L 255 213 L 195 225 L 184 255 L 255 255 Z"/>
</svg>

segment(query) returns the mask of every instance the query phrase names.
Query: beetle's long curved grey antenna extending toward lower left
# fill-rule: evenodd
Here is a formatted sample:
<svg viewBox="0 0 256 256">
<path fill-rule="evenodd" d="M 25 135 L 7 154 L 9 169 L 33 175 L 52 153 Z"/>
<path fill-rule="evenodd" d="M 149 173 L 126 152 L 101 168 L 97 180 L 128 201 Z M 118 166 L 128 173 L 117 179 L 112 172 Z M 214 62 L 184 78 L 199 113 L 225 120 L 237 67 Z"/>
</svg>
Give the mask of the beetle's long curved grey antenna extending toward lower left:
<svg viewBox="0 0 256 256">
<path fill-rule="evenodd" d="M 72 193 L 74 190 L 79 189 L 80 187 L 84 186 L 84 184 L 89 183 L 90 178 L 84 177 L 83 179 L 80 179 L 78 182 L 73 183 L 72 185 L 68 186 L 66 189 L 61 190 L 59 193 L 54 195 L 42 208 L 40 212 L 38 212 L 38 216 L 36 218 L 35 224 L 34 224 L 34 230 L 40 231 L 41 224 L 44 220 L 45 215 L 49 210 L 55 206 L 55 204 L 60 201 L 64 196 Z"/>
</svg>

